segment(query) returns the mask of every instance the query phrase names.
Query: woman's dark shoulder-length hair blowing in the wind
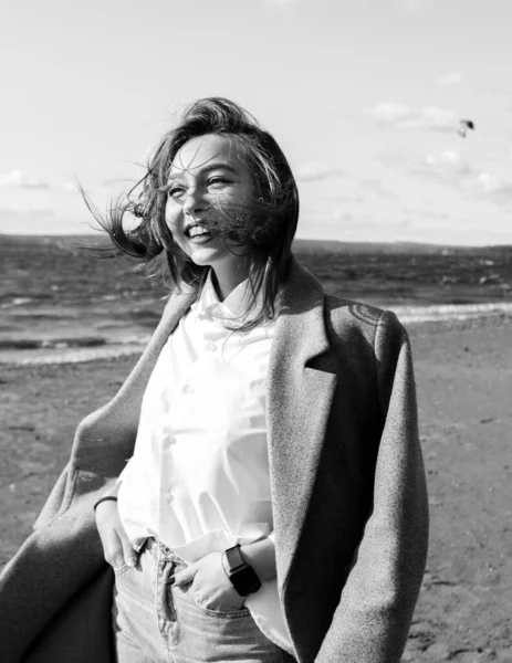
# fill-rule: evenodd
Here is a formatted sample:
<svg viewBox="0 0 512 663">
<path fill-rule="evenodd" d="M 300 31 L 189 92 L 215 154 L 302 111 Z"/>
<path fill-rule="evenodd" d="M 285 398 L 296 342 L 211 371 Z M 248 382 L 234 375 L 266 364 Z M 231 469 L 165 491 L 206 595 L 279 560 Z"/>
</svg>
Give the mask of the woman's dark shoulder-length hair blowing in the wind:
<svg viewBox="0 0 512 663">
<path fill-rule="evenodd" d="M 243 246 L 251 290 L 245 315 L 252 312 L 254 315 L 236 328 L 245 330 L 274 316 L 275 295 L 288 270 L 299 220 L 299 193 L 286 158 L 275 139 L 249 113 L 222 97 L 192 103 L 156 146 L 145 176 L 125 197 L 111 203 L 105 214 L 85 194 L 84 198 L 114 244 L 97 249 L 96 253 L 103 257 L 127 254 L 147 265 L 150 274 L 164 274 L 171 290 L 181 291 L 184 285 L 200 290 L 209 266 L 197 265 L 178 246 L 165 211 L 168 176 L 176 154 L 187 141 L 208 134 L 230 140 L 254 178 L 254 200 L 250 207 L 226 209 L 208 224 L 212 235 L 224 241 L 224 245 L 228 241 L 229 250 Z M 125 229 L 126 214 L 140 220 L 130 230 Z M 258 301 L 261 306 L 255 311 Z"/>
</svg>

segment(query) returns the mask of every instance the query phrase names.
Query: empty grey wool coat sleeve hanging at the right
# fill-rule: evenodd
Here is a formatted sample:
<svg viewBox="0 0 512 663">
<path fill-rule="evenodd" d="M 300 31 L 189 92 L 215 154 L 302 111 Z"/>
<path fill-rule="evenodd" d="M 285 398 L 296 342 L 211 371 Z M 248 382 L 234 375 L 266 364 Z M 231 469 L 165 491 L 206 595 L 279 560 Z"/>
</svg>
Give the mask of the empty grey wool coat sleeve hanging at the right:
<svg viewBox="0 0 512 663">
<path fill-rule="evenodd" d="M 425 572 L 427 485 L 409 339 L 390 312 L 375 335 L 380 409 L 373 509 L 316 663 L 398 663 Z"/>
</svg>

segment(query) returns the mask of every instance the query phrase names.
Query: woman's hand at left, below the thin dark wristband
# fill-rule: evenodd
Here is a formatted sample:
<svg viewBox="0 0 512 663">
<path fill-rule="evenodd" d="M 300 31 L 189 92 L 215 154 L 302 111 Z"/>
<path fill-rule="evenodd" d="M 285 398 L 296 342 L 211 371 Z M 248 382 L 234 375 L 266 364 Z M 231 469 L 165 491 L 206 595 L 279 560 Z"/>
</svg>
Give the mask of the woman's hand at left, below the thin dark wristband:
<svg viewBox="0 0 512 663">
<path fill-rule="evenodd" d="M 105 559 L 114 569 L 137 564 L 137 554 L 121 523 L 117 502 L 108 499 L 96 506 L 96 527 Z"/>
</svg>

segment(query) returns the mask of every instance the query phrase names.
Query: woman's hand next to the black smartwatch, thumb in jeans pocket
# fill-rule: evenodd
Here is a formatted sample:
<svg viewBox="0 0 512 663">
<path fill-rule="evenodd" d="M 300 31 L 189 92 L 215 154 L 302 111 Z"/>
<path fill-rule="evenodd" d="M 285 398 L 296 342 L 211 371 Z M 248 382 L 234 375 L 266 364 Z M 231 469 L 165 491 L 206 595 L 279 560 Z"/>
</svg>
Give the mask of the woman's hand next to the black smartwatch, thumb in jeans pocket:
<svg viewBox="0 0 512 663">
<path fill-rule="evenodd" d="M 196 601 L 208 610 L 232 612 L 243 608 L 245 597 L 241 597 L 231 585 L 223 567 L 222 552 L 210 552 L 186 569 L 175 575 L 173 585 L 181 587 L 191 583 L 189 591 Z"/>
</svg>

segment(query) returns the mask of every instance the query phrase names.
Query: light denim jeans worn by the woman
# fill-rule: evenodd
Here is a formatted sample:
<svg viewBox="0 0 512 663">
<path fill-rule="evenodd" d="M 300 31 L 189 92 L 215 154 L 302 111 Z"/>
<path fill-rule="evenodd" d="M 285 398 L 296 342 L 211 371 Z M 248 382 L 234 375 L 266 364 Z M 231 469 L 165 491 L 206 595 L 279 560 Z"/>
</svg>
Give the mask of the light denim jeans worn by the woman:
<svg viewBox="0 0 512 663">
<path fill-rule="evenodd" d="M 186 562 L 148 539 L 135 567 L 115 569 L 113 625 L 118 663 L 289 663 L 247 608 L 218 612 L 200 606 L 190 585 L 166 580 Z"/>
</svg>

